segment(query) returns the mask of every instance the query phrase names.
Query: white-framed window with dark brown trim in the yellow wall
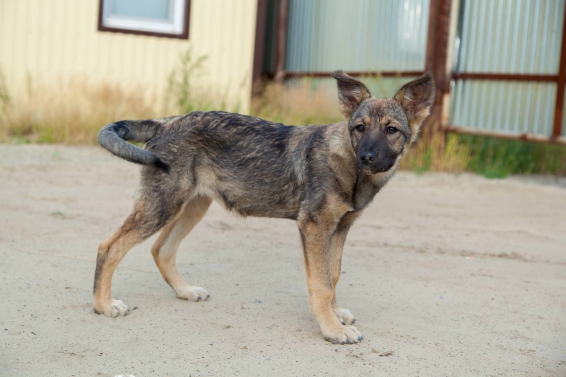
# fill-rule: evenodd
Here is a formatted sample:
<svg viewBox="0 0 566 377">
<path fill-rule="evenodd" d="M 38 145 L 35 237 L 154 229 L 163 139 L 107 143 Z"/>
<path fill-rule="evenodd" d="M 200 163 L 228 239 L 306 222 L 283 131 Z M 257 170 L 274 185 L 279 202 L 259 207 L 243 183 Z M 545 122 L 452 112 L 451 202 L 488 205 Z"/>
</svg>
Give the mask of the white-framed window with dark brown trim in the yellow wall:
<svg viewBox="0 0 566 377">
<path fill-rule="evenodd" d="M 100 0 L 98 30 L 188 38 L 190 0 Z"/>
</svg>

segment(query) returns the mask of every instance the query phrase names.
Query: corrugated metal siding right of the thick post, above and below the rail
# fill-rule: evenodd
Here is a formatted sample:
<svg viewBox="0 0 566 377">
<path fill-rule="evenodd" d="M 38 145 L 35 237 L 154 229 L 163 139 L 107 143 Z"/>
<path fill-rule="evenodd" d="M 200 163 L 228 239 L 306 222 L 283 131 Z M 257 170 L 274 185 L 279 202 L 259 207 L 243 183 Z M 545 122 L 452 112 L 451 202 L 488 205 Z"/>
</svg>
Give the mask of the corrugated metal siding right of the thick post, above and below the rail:
<svg viewBox="0 0 566 377">
<path fill-rule="evenodd" d="M 462 3 L 457 72 L 557 74 L 565 0 Z M 536 81 L 455 80 L 450 122 L 549 136 L 556 86 Z"/>
</svg>

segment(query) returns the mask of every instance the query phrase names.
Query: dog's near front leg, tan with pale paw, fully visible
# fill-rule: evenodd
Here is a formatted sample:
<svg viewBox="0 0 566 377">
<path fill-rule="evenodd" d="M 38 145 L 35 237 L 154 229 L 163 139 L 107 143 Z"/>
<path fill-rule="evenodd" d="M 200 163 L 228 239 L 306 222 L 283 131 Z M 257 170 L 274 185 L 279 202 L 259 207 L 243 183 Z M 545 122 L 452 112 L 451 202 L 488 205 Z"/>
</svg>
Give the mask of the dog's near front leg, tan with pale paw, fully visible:
<svg viewBox="0 0 566 377">
<path fill-rule="evenodd" d="M 324 339 L 333 343 L 358 343 L 362 335 L 354 326 L 340 323 L 332 308 L 334 284 L 331 266 L 331 237 L 336 223 L 310 220 L 299 222 L 312 314 Z"/>
</svg>

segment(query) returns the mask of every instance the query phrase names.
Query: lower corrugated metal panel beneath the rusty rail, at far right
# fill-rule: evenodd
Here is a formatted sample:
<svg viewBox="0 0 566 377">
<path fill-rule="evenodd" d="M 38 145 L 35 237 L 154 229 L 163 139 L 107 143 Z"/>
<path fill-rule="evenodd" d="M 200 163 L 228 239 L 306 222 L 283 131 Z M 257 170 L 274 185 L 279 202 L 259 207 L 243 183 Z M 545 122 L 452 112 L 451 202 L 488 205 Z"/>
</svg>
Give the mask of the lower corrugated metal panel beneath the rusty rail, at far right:
<svg viewBox="0 0 566 377">
<path fill-rule="evenodd" d="M 509 133 L 552 134 L 556 83 L 457 80 L 451 124 Z"/>
</svg>

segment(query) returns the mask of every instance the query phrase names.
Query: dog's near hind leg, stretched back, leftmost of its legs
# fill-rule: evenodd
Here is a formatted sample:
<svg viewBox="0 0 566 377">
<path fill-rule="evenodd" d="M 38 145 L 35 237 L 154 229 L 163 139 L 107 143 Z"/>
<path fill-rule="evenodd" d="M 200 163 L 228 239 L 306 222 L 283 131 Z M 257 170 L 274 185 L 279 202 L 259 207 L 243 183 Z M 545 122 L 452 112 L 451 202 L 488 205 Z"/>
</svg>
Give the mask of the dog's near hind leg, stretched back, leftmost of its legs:
<svg viewBox="0 0 566 377">
<path fill-rule="evenodd" d="M 120 300 L 113 300 L 111 294 L 112 276 L 118 263 L 128 250 L 140 244 L 171 219 L 177 216 L 183 207 L 180 197 L 145 194 L 136 202 L 134 211 L 128 216 L 121 228 L 98 246 L 96 258 L 94 311 L 107 317 L 126 315 L 128 307 Z"/>
</svg>

